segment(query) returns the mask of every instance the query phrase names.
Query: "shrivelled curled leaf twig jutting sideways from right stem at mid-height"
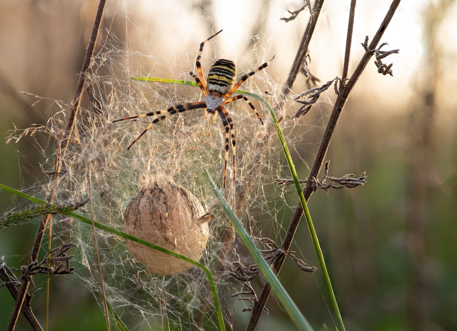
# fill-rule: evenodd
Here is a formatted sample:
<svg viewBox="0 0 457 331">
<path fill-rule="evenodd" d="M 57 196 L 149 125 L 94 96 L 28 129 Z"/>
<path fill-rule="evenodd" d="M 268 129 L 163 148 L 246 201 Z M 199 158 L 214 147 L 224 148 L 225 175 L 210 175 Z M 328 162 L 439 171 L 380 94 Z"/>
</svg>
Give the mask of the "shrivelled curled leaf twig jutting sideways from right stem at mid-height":
<svg viewBox="0 0 457 331">
<path fill-rule="evenodd" d="M 350 178 L 355 176 L 352 173 L 348 173 L 347 175 L 344 175 L 341 178 L 336 178 L 336 177 L 329 177 L 327 176 L 329 172 L 329 163 L 330 161 L 327 161 L 324 166 L 324 176 L 322 177 L 321 180 L 317 180 L 317 178 L 313 177 L 312 179 L 312 188 L 313 192 L 317 192 L 318 189 L 324 189 L 327 191 L 327 194 L 329 194 L 329 189 L 342 189 L 343 187 L 347 187 L 349 189 L 353 189 L 357 186 L 363 186 L 364 183 L 367 183 L 365 180 L 367 176 L 365 175 L 365 171 L 362 173 L 362 175 L 359 178 Z M 325 180 L 329 179 L 331 182 L 329 184 L 325 183 Z M 275 182 L 278 183 L 278 185 L 292 185 L 294 184 L 293 179 L 281 179 L 277 178 L 275 179 Z M 298 181 L 300 184 L 306 184 L 308 182 L 308 179 L 306 180 L 299 180 Z M 334 185 L 333 183 L 338 183 L 340 185 Z"/>
</svg>

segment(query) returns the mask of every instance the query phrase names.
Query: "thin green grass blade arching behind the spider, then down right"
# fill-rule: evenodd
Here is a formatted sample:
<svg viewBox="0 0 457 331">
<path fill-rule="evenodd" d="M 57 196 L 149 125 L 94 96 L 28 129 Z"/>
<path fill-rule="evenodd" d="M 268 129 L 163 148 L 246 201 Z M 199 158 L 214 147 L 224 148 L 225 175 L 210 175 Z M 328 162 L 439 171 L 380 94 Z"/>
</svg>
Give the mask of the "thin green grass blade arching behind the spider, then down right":
<svg viewBox="0 0 457 331">
<path fill-rule="evenodd" d="M 196 82 L 185 81 L 185 80 L 176 80 L 176 79 L 165 79 L 165 78 L 154 78 L 154 77 L 133 77 L 132 79 L 142 81 L 142 82 L 161 82 L 161 83 L 198 86 Z M 303 207 L 306 222 L 308 223 L 309 233 L 311 234 L 311 238 L 313 239 L 314 249 L 315 249 L 317 257 L 319 259 L 320 268 L 322 269 L 322 273 L 324 274 L 325 284 L 327 286 L 327 290 L 329 291 L 333 309 L 335 310 L 335 315 L 336 315 L 336 318 L 338 319 L 338 324 L 340 325 L 341 331 L 345 331 L 343 319 L 341 318 L 340 310 L 338 309 L 338 304 L 336 303 L 335 293 L 333 292 L 332 284 L 330 282 L 329 273 L 327 272 L 327 268 L 325 266 L 324 256 L 322 255 L 322 250 L 320 249 L 319 240 L 317 238 L 316 231 L 314 230 L 313 221 L 311 220 L 311 215 L 309 214 L 308 206 L 306 205 L 306 200 L 305 200 L 305 197 L 303 196 L 303 191 L 302 191 L 302 188 L 300 187 L 300 183 L 298 181 L 297 172 L 295 171 L 295 166 L 292 162 L 292 158 L 290 156 L 289 149 L 287 148 L 287 144 L 286 144 L 286 140 L 284 139 L 284 135 L 282 134 L 281 127 L 279 126 L 278 120 L 276 119 L 275 112 L 274 112 L 273 108 L 271 108 L 271 105 L 260 95 L 257 95 L 255 93 L 251 93 L 251 92 L 247 92 L 247 91 L 244 91 L 241 89 L 237 89 L 235 92 L 242 94 L 242 95 L 247 95 L 247 96 L 250 96 L 251 98 L 259 100 L 270 111 L 271 118 L 273 119 L 273 123 L 275 124 L 276 132 L 278 133 L 279 140 L 281 141 L 282 149 L 284 150 L 284 154 L 287 159 L 287 164 L 289 165 L 289 169 L 292 174 L 292 178 L 295 183 L 295 187 L 297 189 L 298 198 L 300 199 L 300 203 L 302 204 L 302 207 Z"/>
</svg>

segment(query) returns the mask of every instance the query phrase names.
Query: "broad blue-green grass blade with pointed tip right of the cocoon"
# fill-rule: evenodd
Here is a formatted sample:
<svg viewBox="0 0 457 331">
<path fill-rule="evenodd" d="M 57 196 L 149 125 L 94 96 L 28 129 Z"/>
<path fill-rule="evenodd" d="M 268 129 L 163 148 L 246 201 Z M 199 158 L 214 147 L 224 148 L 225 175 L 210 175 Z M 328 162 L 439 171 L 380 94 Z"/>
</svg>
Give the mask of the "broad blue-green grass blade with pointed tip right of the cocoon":
<svg viewBox="0 0 457 331">
<path fill-rule="evenodd" d="M 216 184 L 214 184 L 214 181 L 211 178 L 211 175 L 208 173 L 208 170 L 204 166 L 203 166 L 203 169 L 205 169 L 205 173 L 208 177 L 209 184 L 211 185 L 211 188 L 213 189 L 214 194 L 218 198 L 219 203 L 222 205 L 222 208 L 224 209 L 224 211 L 227 214 L 230 221 L 232 221 L 232 224 L 233 224 L 235 230 L 238 232 L 239 236 L 241 237 L 241 240 L 243 240 L 244 245 L 246 245 L 246 247 L 248 248 L 252 257 L 254 257 L 255 262 L 259 266 L 260 270 L 262 270 L 262 273 L 265 275 L 265 278 L 270 283 L 271 288 L 276 293 L 276 296 L 281 301 L 282 305 L 286 309 L 287 313 L 289 314 L 289 316 L 291 317 L 291 319 L 293 320 L 293 322 L 295 323 L 297 328 L 299 330 L 305 330 L 305 331 L 313 330 L 311 325 L 309 325 L 308 320 L 306 320 L 306 318 L 303 316 L 302 312 L 298 309 L 297 305 L 295 305 L 295 302 L 293 302 L 290 295 L 287 293 L 287 291 L 284 289 L 282 284 L 279 282 L 278 278 L 273 273 L 273 271 L 271 270 L 268 263 L 266 263 L 265 259 L 260 254 L 257 247 L 255 247 L 254 241 L 248 235 L 248 233 L 244 229 L 243 225 L 238 220 L 235 213 L 228 205 L 227 201 L 224 199 L 221 191 L 219 191 Z"/>
</svg>

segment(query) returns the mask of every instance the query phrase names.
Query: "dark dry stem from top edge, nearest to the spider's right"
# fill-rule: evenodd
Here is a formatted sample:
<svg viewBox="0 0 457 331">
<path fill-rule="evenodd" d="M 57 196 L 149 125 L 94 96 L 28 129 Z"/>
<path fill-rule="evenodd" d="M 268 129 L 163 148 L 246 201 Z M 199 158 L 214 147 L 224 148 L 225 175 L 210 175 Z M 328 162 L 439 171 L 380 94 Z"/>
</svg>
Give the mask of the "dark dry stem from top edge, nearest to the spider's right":
<svg viewBox="0 0 457 331">
<path fill-rule="evenodd" d="M 308 22 L 308 26 L 306 26 L 302 42 L 300 43 L 300 47 L 298 48 L 298 52 L 295 56 L 292 69 L 290 70 L 289 77 L 287 78 L 287 82 L 284 87 L 283 93 L 285 95 L 287 95 L 289 93 L 289 90 L 292 89 L 292 85 L 295 82 L 295 79 L 297 78 L 298 70 L 300 70 L 300 66 L 302 65 L 303 58 L 308 53 L 309 42 L 311 41 L 311 37 L 313 36 L 314 28 L 316 27 L 317 19 L 319 18 L 320 10 L 322 9 L 323 4 L 324 0 L 316 0 L 314 2 L 313 12 L 310 13 L 311 19 Z"/>
</svg>

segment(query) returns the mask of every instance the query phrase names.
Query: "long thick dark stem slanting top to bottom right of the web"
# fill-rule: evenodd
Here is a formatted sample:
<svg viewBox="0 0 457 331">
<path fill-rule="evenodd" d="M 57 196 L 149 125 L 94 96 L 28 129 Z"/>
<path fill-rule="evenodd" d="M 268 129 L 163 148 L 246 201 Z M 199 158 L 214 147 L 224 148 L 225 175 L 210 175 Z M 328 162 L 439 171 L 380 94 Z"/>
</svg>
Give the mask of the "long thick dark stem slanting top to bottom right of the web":
<svg viewBox="0 0 457 331">
<path fill-rule="evenodd" d="M 386 30 L 390 20 L 393 17 L 393 14 L 395 13 L 399 4 L 400 4 L 400 0 L 393 0 L 386 16 L 384 17 L 383 22 L 379 26 L 375 36 L 373 37 L 372 42 L 370 43 L 370 49 L 376 48 L 378 42 L 380 41 L 381 37 L 383 36 L 383 33 Z M 347 53 L 346 55 L 347 55 L 347 57 L 349 57 L 349 53 Z M 303 195 L 307 202 L 309 200 L 309 197 L 313 193 L 313 188 L 311 185 L 312 179 L 313 179 L 313 177 L 316 177 L 316 178 L 318 177 L 320 169 L 322 168 L 322 164 L 324 163 L 325 154 L 327 153 L 327 150 L 329 148 L 330 140 L 333 136 L 333 132 L 335 131 L 336 124 L 338 123 L 338 120 L 340 118 L 341 111 L 343 110 L 343 107 L 346 103 L 347 98 L 349 97 L 349 94 L 351 93 L 352 89 L 354 88 L 354 85 L 356 84 L 361 73 L 367 66 L 367 63 L 371 57 L 372 57 L 372 54 L 370 54 L 370 53 L 365 53 L 363 55 L 356 70 L 352 74 L 351 79 L 345 85 L 345 89 L 343 90 L 343 93 L 341 95 L 339 95 L 335 101 L 335 105 L 333 107 L 332 113 L 331 113 L 329 121 L 327 123 L 327 127 L 325 128 L 324 137 L 322 137 L 321 143 L 319 145 L 319 150 L 316 154 L 316 157 L 314 158 L 313 167 L 311 168 L 311 172 L 309 173 L 308 183 L 303 191 Z M 303 207 L 302 207 L 301 203 L 298 202 L 298 205 L 295 208 L 295 212 L 292 216 L 289 227 L 287 229 L 286 235 L 284 236 L 284 240 L 282 241 L 282 245 L 281 245 L 282 250 L 284 250 L 284 251 L 289 250 L 290 245 L 292 244 L 293 236 L 295 235 L 295 231 L 297 230 L 298 223 L 300 221 L 300 218 L 302 217 L 302 214 L 303 214 Z M 279 271 L 281 270 L 284 260 L 285 260 L 285 258 L 283 257 L 280 261 L 273 264 L 273 268 L 276 271 L 276 273 L 279 273 Z M 271 293 L 271 287 L 267 283 L 264 285 L 264 287 L 262 289 L 262 293 L 260 294 L 259 300 L 257 302 L 257 305 L 255 306 L 255 309 L 252 311 L 252 316 L 251 316 L 251 319 L 249 321 L 249 325 L 248 325 L 246 331 L 255 330 L 255 327 L 257 326 L 257 323 L 260 319 L 260 315 L 262 314 L 263 308 L 266 305 L 266 301 L 267 301 L 270 293 Z"/>
</svg>

